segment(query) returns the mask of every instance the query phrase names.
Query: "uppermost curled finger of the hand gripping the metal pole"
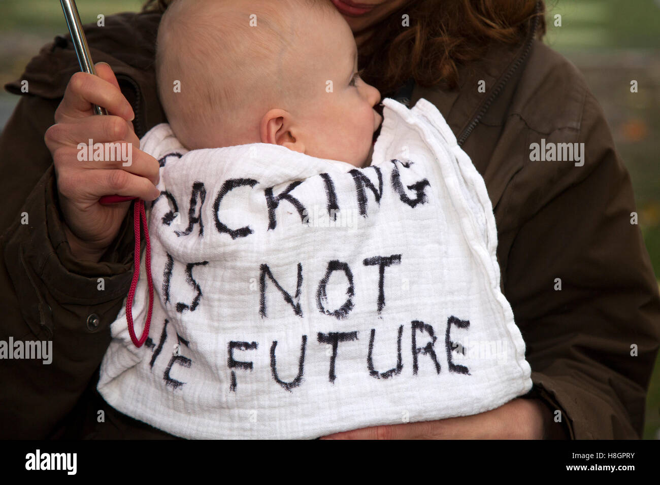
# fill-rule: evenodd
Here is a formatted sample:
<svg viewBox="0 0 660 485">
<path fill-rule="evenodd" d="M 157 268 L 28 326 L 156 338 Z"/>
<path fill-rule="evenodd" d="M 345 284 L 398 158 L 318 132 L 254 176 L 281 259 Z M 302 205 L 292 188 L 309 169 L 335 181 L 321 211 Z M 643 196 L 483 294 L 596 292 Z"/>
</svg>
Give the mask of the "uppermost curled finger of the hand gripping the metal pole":
<svg viewBox="0 0 660 485">
<path fill-rule="evenodd" d="M 114 78 L 114 75 L 112 76 Z M 94 104 L 126 120 L 135 117 L 131 104 L 121 94 L 117 85 L 99 76 L 75 73 L 71 76 L 64 98 L 55 111 L 55 122 L 62 123 L 72 118 L 88 117 L 92 114 Z"/>
</svg>

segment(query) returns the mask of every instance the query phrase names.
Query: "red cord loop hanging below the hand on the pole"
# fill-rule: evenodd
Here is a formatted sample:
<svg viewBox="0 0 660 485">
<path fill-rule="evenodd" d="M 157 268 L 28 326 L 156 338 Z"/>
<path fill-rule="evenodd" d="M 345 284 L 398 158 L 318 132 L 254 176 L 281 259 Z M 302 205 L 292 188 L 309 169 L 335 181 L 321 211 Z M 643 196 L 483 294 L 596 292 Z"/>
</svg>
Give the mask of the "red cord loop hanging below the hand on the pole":
<svg viewBox="0 0 660 485">
<path fill-rule="evenodd" d="M 149 286 L 149 310 L 147 311 L 147 320 L 145 321 L 145 328 L 142 335 L 138 340 L 135 337 L 135 329 L 133 329 L 133 313 L 131 307 L 133 306 L 133 297 L 135 296 L 135 288 L 137 287 L 137 280 L 140 278 L 140 220 L 142 220 L 142 228 L 145 230 L 145 242 L 147 243 L 147 254 L 145 255 L 145 266 L 147 267 L 147 286 Z M 133 226 L 135 229 L 135 253 L 134 253 L 134 269 L 133 280 L 131 281 L 131 289 L 126 298 L 126 319 L 128 321 L 128 333 L 131 335 L 131 340 L 136 347 L 141 347 L 149 337 L 149 325 L 151 323 L 151 311 L 154 306 L 154 284 L 151 280 L 151 245 L 149 243 L 149 228 L 147 227 L 147 214 L 145 214 L 145 203 L 142 200 L 135 201 L 133 205 Z"/>
</svg>

